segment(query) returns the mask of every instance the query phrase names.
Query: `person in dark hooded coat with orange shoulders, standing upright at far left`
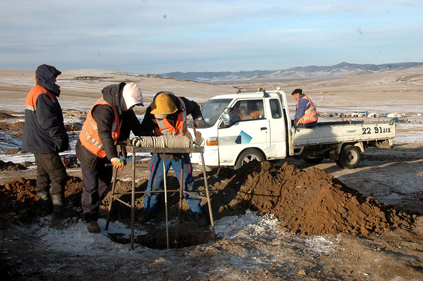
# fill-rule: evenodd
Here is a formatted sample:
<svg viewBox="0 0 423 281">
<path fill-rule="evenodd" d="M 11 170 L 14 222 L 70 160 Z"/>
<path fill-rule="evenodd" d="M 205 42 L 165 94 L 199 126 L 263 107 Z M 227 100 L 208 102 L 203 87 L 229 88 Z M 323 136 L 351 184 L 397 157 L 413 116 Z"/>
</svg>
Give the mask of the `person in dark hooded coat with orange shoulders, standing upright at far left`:
<svg viewBox="0 0 423 281">
<path fill-rule="evenodd" d="M 29 91 L 25 102 L 22 148 L 35 156 L 36 190 L 44 215 L 51 212 L 63 214 L 65 205 L 66 169 L 59 152 L 69 149 L 69 139 L 57 100 L 60 86 L 56 84 L 56 78 L 60 74 L 50 65 L 37 67 L 36 85 Z"/>
</svg>

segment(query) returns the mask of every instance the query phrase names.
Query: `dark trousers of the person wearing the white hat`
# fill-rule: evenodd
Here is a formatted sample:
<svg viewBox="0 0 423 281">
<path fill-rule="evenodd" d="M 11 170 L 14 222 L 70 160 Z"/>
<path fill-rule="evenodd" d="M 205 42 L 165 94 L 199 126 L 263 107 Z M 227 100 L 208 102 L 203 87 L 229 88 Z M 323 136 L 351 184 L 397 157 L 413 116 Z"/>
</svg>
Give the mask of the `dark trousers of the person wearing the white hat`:
<svg viewBox="0 0 423 281">
<path fill-rule="evenodd" d="M 100 198 L 111 183 L 113 167 L 99 163 L 93 171 L 81 163 L 82 170 L 82 211 L 85 222 L 99 219 Z"/>
</svg>

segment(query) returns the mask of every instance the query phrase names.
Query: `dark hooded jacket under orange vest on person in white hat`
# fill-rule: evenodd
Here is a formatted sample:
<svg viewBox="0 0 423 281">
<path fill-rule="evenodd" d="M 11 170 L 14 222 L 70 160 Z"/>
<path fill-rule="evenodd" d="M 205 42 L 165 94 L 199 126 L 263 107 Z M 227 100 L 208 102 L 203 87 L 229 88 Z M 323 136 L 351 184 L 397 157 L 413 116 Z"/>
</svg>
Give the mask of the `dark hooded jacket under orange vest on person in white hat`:
<svg viewBox="0 0 423 281">
<path fill-rule="evenodd" d="M 104 100 L 113 106 L 119 116 L 120 134 L 118 142 L 127 140 L 131 131 L 136 136 L 145 135 L 134 111 L 132 109 L 122 111 L 120 107 L 119 96 L 122 94 L 125 85 L 126 84 L 122 82 L 107 86 L 102 90 Z M 93 118 L 97 122 L 99 137 L 106 151 L 106 157 L 101 158 L 93 154 L 81 144 L 80 139 L 78 139 L 76 144 L 76 154 L 80 162 L 94 171 L 97 169 L 96 167 L 101 167 L 103 164 L 110 163 L 110 159 L 117 157 L 117 150 L 111 137 L 112 123 L 114 120 L 113 109 L 107 104 L 99 104 L 94 106 L 91 110 Z"/>
</svg>

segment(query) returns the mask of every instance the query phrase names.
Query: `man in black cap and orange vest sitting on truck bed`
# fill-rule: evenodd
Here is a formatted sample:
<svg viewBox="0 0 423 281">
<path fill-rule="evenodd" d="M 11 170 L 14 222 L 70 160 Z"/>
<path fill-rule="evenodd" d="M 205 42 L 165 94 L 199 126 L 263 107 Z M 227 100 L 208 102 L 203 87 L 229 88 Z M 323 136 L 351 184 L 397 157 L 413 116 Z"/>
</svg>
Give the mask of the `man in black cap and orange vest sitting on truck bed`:
<svg viewBox="0 0 423 281">
<path fill-rule="evenodd" d="M 313 101 L 305 94 L 303 90 L 295 89 L 291 93 L 297 103 L 293 125 L 295 127 L 314 127 L 317 124 L 317 110 Z"/>
</svg>

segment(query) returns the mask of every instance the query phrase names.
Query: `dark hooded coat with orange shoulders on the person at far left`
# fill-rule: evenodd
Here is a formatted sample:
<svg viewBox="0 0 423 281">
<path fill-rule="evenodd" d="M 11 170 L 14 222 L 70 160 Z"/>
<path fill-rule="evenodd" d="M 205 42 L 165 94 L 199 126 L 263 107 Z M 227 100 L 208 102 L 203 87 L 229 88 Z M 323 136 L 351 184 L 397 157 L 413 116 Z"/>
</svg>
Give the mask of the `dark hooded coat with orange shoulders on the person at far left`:
<svg viewBox="0 0 423 281">
<path fill-rule="evenodd" d="M 59 153 L 69 149 L 63 113 L 57 96 L 60 86 L 54 78 L 61 72 L 50 65 L 35 70 L 35 81 L 25 101 L 22 148 L 33 153 Z"/>
</svg>

